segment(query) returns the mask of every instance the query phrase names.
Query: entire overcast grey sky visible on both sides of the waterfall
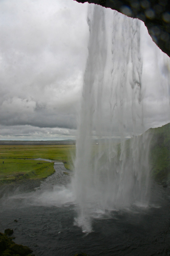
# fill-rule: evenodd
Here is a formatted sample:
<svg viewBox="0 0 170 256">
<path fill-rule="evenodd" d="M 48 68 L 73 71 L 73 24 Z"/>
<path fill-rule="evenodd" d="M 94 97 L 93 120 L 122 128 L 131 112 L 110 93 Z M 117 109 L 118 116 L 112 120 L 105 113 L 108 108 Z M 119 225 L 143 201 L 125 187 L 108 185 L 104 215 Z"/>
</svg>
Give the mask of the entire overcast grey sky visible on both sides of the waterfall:
<svg viewBox="0 0 170 256">
<path fill-rule="evenodd" d="M 0 1 L 0 140 L 75 139 L 88 4 Z M 142 24 L 146 128 L 170 122 L 170 60 Z"/>
</svg>

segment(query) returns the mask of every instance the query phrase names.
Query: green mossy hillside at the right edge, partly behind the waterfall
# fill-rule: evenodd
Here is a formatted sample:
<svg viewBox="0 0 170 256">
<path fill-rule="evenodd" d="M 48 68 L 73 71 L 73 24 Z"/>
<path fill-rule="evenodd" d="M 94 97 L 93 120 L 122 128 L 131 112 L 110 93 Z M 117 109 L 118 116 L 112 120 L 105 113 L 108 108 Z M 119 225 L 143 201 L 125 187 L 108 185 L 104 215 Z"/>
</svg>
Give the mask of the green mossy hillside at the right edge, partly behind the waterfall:
<svg viewBox="0 0 170 256">
<path fill-rule="evenodd" d="M 138 147 L 140 147 L 141 156 L 149 157 L 148 168 L 151 170 L 151 178 L 165 186 L 170 184 L 170 123 L 162 127 L 150 128 L 140 136 L 126 140 L 124 153 L 127 160 L 132 157 L 129 148 L 133 145 L 134 139 L 137 140 Z M 148 140 L 147 147 L 149 148 L 141 146 L 145 140 Z M 121 152 L 120 147 L 121 144 L 118 144 L 118 159 Z M 147 150 L 148 153 L 145 154 L 144 150 Z"/>
</svg>

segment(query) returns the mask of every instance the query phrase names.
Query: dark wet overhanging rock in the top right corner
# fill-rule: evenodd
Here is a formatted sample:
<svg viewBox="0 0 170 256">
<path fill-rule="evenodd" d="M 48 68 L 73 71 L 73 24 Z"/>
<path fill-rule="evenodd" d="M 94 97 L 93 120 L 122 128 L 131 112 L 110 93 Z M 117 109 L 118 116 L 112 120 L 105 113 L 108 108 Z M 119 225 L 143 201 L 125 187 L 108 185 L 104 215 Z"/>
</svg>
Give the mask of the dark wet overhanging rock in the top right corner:
<svg viewBox="0 0 170 256">
<path fill-rule="evenodd" d="M 170 57 L 169 0 L 75 0 L 100 4 L 129 17 L 144 21 L 152 40 Z"/>
</svg>

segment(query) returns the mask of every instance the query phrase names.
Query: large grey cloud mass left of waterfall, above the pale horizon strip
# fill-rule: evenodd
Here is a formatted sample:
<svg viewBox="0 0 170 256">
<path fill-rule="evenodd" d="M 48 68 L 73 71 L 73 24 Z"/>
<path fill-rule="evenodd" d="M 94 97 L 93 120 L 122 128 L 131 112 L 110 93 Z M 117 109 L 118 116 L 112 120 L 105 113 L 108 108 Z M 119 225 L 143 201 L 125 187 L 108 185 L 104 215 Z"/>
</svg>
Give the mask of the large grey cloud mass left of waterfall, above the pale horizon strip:
<svg viewBox="0 0 170 256">
<path fill-rule="evenodd" d="M 0 123 L 6 131 L 75 129 L 87 55 L 85 5 L 7 0 L 0 7 Z"/>
</svg>

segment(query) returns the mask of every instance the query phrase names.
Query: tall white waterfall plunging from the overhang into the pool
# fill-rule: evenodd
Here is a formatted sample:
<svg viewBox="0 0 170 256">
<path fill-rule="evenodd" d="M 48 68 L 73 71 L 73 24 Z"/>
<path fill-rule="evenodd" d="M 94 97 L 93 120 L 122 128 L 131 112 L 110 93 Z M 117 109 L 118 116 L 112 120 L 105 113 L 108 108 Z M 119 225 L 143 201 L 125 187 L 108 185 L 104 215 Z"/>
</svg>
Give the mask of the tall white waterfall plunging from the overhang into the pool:
<svg viewBox="0 0 170 256">
<path fill-rule="evenodd" d="M 77 224 L 85 232 L 92 230 L 92 217 L 147 205 L 149 198 L 149 138 L 136 136 L 144 131 L 140 21 L 89 5 L 88 24 L 72 180 L 80 208 Z M 133 138 L 126 140 L 127 134 Z"/>
</svg>

